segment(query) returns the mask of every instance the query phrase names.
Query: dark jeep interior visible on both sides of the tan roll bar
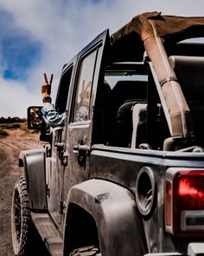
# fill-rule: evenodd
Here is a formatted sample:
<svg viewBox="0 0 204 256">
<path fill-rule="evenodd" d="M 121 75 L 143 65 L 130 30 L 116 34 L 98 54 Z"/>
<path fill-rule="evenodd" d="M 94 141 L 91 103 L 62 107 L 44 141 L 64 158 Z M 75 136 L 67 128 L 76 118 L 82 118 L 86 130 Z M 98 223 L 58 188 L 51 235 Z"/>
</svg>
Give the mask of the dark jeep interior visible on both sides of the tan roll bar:
<svg viewBox="0 0 204 256">
<path fill-rule="evenodd" d="M 203 50 L 203 45 L 198 48 Z M 191 111 L 194 145 L 204 147 L 204 57 L 191 44 L 177 44 L 169 54 Z M 148 65 L 112 62 L 105 70 L 105 82 L 109 87 L 103 108 L 105 145 L 163 150 L 169 127 Z"/>
</svg>

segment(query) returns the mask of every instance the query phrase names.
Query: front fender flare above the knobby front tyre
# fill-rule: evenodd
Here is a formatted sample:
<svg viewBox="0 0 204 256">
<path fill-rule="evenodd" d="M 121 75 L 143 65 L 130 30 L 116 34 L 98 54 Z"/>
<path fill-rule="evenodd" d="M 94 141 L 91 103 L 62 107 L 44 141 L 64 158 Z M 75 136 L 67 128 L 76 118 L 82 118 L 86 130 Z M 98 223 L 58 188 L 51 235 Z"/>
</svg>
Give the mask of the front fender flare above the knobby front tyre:
<svg viewBox="0 0 204 256">
<path fill-rule="evenodd" d="M 19 167 L 24 167 L 30 207 L 34 211 L 47 210 L 45 181 L 45 149 L 24 150 L 19 155 Z"/>
</svg>

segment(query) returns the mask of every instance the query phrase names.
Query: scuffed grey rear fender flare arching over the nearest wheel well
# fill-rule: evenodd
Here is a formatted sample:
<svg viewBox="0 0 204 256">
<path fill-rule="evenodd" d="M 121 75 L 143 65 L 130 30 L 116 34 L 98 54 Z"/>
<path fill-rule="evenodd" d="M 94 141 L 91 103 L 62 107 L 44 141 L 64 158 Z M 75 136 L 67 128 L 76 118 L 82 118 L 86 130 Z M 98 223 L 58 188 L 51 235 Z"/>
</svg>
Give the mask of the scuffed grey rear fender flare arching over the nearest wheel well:
<svg viewBox="0 0 204 256">
<path fill-rule="evenodd" d="M 76 204 L 92 215 L 103 256 L 147 253 L 143 221 L 137 214 L 133 194 L 126 188 L 109 181 L 85 181 L 71 188 L 69 204 Z M 66 224 L 65 236 L 69 228 Z M 65 240 L 68 243 L 68 237 Z"/>
</svg>

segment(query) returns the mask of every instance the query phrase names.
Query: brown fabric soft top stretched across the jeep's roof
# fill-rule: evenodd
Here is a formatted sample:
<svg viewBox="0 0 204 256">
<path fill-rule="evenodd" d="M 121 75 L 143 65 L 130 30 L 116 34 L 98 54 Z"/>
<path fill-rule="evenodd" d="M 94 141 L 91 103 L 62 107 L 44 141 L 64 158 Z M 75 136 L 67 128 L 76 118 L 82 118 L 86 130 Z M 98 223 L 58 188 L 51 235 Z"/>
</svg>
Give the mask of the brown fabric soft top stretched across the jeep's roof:
<svg viewBox="0 0 204 256">
<path fill-rule="evenodd" d="M 132 32 L 137 33 L 143 41 L 152 36 L 149 21 L 153 21 L 157 36 L 165 40 L 179 42 L 191 37 L 204 36 L 203 16 L 162 16 L 161 12 L 146 12 L 132 18 L 130 23 L 124 25 L 112 35 L 113 42 Z"/>
</svg>

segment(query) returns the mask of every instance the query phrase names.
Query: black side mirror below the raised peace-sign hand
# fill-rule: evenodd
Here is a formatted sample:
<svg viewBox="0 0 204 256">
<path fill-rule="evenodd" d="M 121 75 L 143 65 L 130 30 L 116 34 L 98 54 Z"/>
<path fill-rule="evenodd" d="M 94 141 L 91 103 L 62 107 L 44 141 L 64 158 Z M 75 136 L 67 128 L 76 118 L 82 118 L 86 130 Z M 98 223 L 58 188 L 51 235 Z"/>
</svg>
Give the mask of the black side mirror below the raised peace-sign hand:
<svg viewBox="0 0 204 256">
<path fill-rule="evenodd" d="M 34 130 L 41 129 L 42 114 L 39 106 L 31 106 L 28 108 L 28 128 Z"/>
</svg>

